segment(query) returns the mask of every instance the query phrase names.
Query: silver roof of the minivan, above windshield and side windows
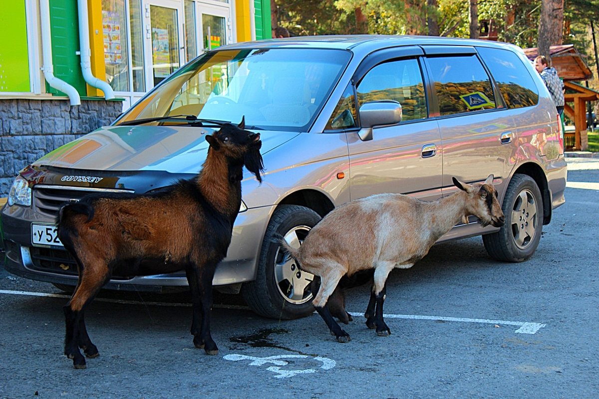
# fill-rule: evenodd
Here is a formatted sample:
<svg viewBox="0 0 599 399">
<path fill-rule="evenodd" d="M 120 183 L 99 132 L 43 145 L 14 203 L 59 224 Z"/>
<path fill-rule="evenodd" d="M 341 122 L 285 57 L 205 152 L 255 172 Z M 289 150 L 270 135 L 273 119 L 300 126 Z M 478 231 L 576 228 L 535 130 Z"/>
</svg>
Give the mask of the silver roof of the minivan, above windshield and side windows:
<svg viewBox="0 0 599 399">
<path fill-rule="evenodd" d="M 232 50 L 243 48 L 336 48 L 339 50 L 374 51 L 380 48 L 400 45 L 467 45 L 504 48 L 515 50 L 519 47 L 488 40 L 446 38 L 440 36 L 408 36 L 408 35 L 323 35 L 295 36 L 281 39 L 264 39 L 250 42 L 240 42 L 218 47 L 217 50 Z M 522 51 L 522 50 L 520 50 Z"/>
</svg>

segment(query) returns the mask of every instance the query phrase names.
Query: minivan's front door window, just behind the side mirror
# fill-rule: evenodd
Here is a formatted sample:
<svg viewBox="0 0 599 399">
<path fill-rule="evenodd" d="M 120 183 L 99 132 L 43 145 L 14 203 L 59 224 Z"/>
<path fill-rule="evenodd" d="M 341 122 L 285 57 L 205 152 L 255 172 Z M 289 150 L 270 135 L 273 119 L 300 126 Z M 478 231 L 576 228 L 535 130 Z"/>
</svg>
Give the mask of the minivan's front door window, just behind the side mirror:
<svg viewBox="0 0 599 399">
<path fill-rule="evenodd" d="M 385 62 L 370 69 L 356 89 L 358 107 L 366 102 L 395 100 L 401 104 L 402 120 L 423 119 L 426 96 L 417 59 Z"/>
</svg>

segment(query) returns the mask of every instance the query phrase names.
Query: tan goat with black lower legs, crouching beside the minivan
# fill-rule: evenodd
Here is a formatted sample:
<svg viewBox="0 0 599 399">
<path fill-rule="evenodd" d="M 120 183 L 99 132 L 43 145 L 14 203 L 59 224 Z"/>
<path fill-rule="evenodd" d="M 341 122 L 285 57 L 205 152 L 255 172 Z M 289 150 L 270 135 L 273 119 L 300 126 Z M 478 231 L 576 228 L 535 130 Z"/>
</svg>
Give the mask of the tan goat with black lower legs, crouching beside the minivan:
<svg viewBox="0 0 599 399">
<path fill-rule="evenodd" d="M 437 202 L 423 202 L 403 194 L 376 194 L 335 208 L 308 233 L 299 249 L 282 245 L 305 272 L 320 276 L 313 304 L 331 334 L 348 342 L 349 334 L 332 318 L 327 301 L 343 276 L 374 269 L 373 288 L 365 313 L 367 326 L 388 336 L 383 320 L 386 280 L 392 269 L 408 269 L 431 246 L 469 215 L 483 226 L 503 226 L 505 218 L 493 187 L 493 175 L 483 184 L 453 178 L 460 191 Z"/>
</svg>

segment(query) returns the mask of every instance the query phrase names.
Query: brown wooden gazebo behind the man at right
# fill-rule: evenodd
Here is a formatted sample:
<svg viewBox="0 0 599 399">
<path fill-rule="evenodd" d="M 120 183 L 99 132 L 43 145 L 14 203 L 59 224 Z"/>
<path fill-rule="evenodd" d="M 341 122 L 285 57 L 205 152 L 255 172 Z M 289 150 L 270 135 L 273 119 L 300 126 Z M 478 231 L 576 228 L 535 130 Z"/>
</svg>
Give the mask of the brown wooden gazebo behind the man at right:
<svg viewBox="0 0 599 399">
<path fill-rule="evenodd" d="M 524 53 L 530 60 L 539 54 L 536 47 L 525 48 Z M 586 135 L 586 102 L 599 99 L 599 93 L 588 89 L 574 81 L 592 78 L 591 68 L 586 65 L 583 55 L 573 44 L 552 45 L 549 47 L 552 66 L 558 71 L 558 76 L 564 80 L 567 89 L 565 94 L 564 112 L 574 121 L 574 133 L 565 133 L 566 147 L 571 150 L 586 150 L 588 140 Z M 568 90 L 570 89 L 570 90 Z M 574 91 L 574 93 L 571 93 Z M 573 106 L 570 103 L 574 103 Z M 568 137 L 573 136 L 573 137 Z"/>
</svg>

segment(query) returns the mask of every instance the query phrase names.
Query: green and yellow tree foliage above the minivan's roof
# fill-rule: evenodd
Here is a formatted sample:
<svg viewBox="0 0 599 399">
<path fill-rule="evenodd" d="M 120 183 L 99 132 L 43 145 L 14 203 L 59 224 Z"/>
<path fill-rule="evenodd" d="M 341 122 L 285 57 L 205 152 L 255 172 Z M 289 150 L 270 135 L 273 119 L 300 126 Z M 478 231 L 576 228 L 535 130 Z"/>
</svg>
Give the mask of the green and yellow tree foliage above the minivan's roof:
<svg viewBox="0 0 599 399">
<path fill-rule="evenodd" d="M 434 19 L 441 36 L 467 38 L 465 0 L 272 0 L 280 26 L 293 35 L 391 34 L 428 35 Z M 430 4 L 435 4 L 436 7 Z M 564 1 L 564 43 L 581 48 L 578 33 L 599 20 L 599 0 Z M 492 19 L 498 40 L 536 47 L 541 0 L 478 0 L 479 20 Z M 364 23 L 361 17 L 364 16 Z M 578 47 L 577 47 L 578 48 Z"/>
</svg>

